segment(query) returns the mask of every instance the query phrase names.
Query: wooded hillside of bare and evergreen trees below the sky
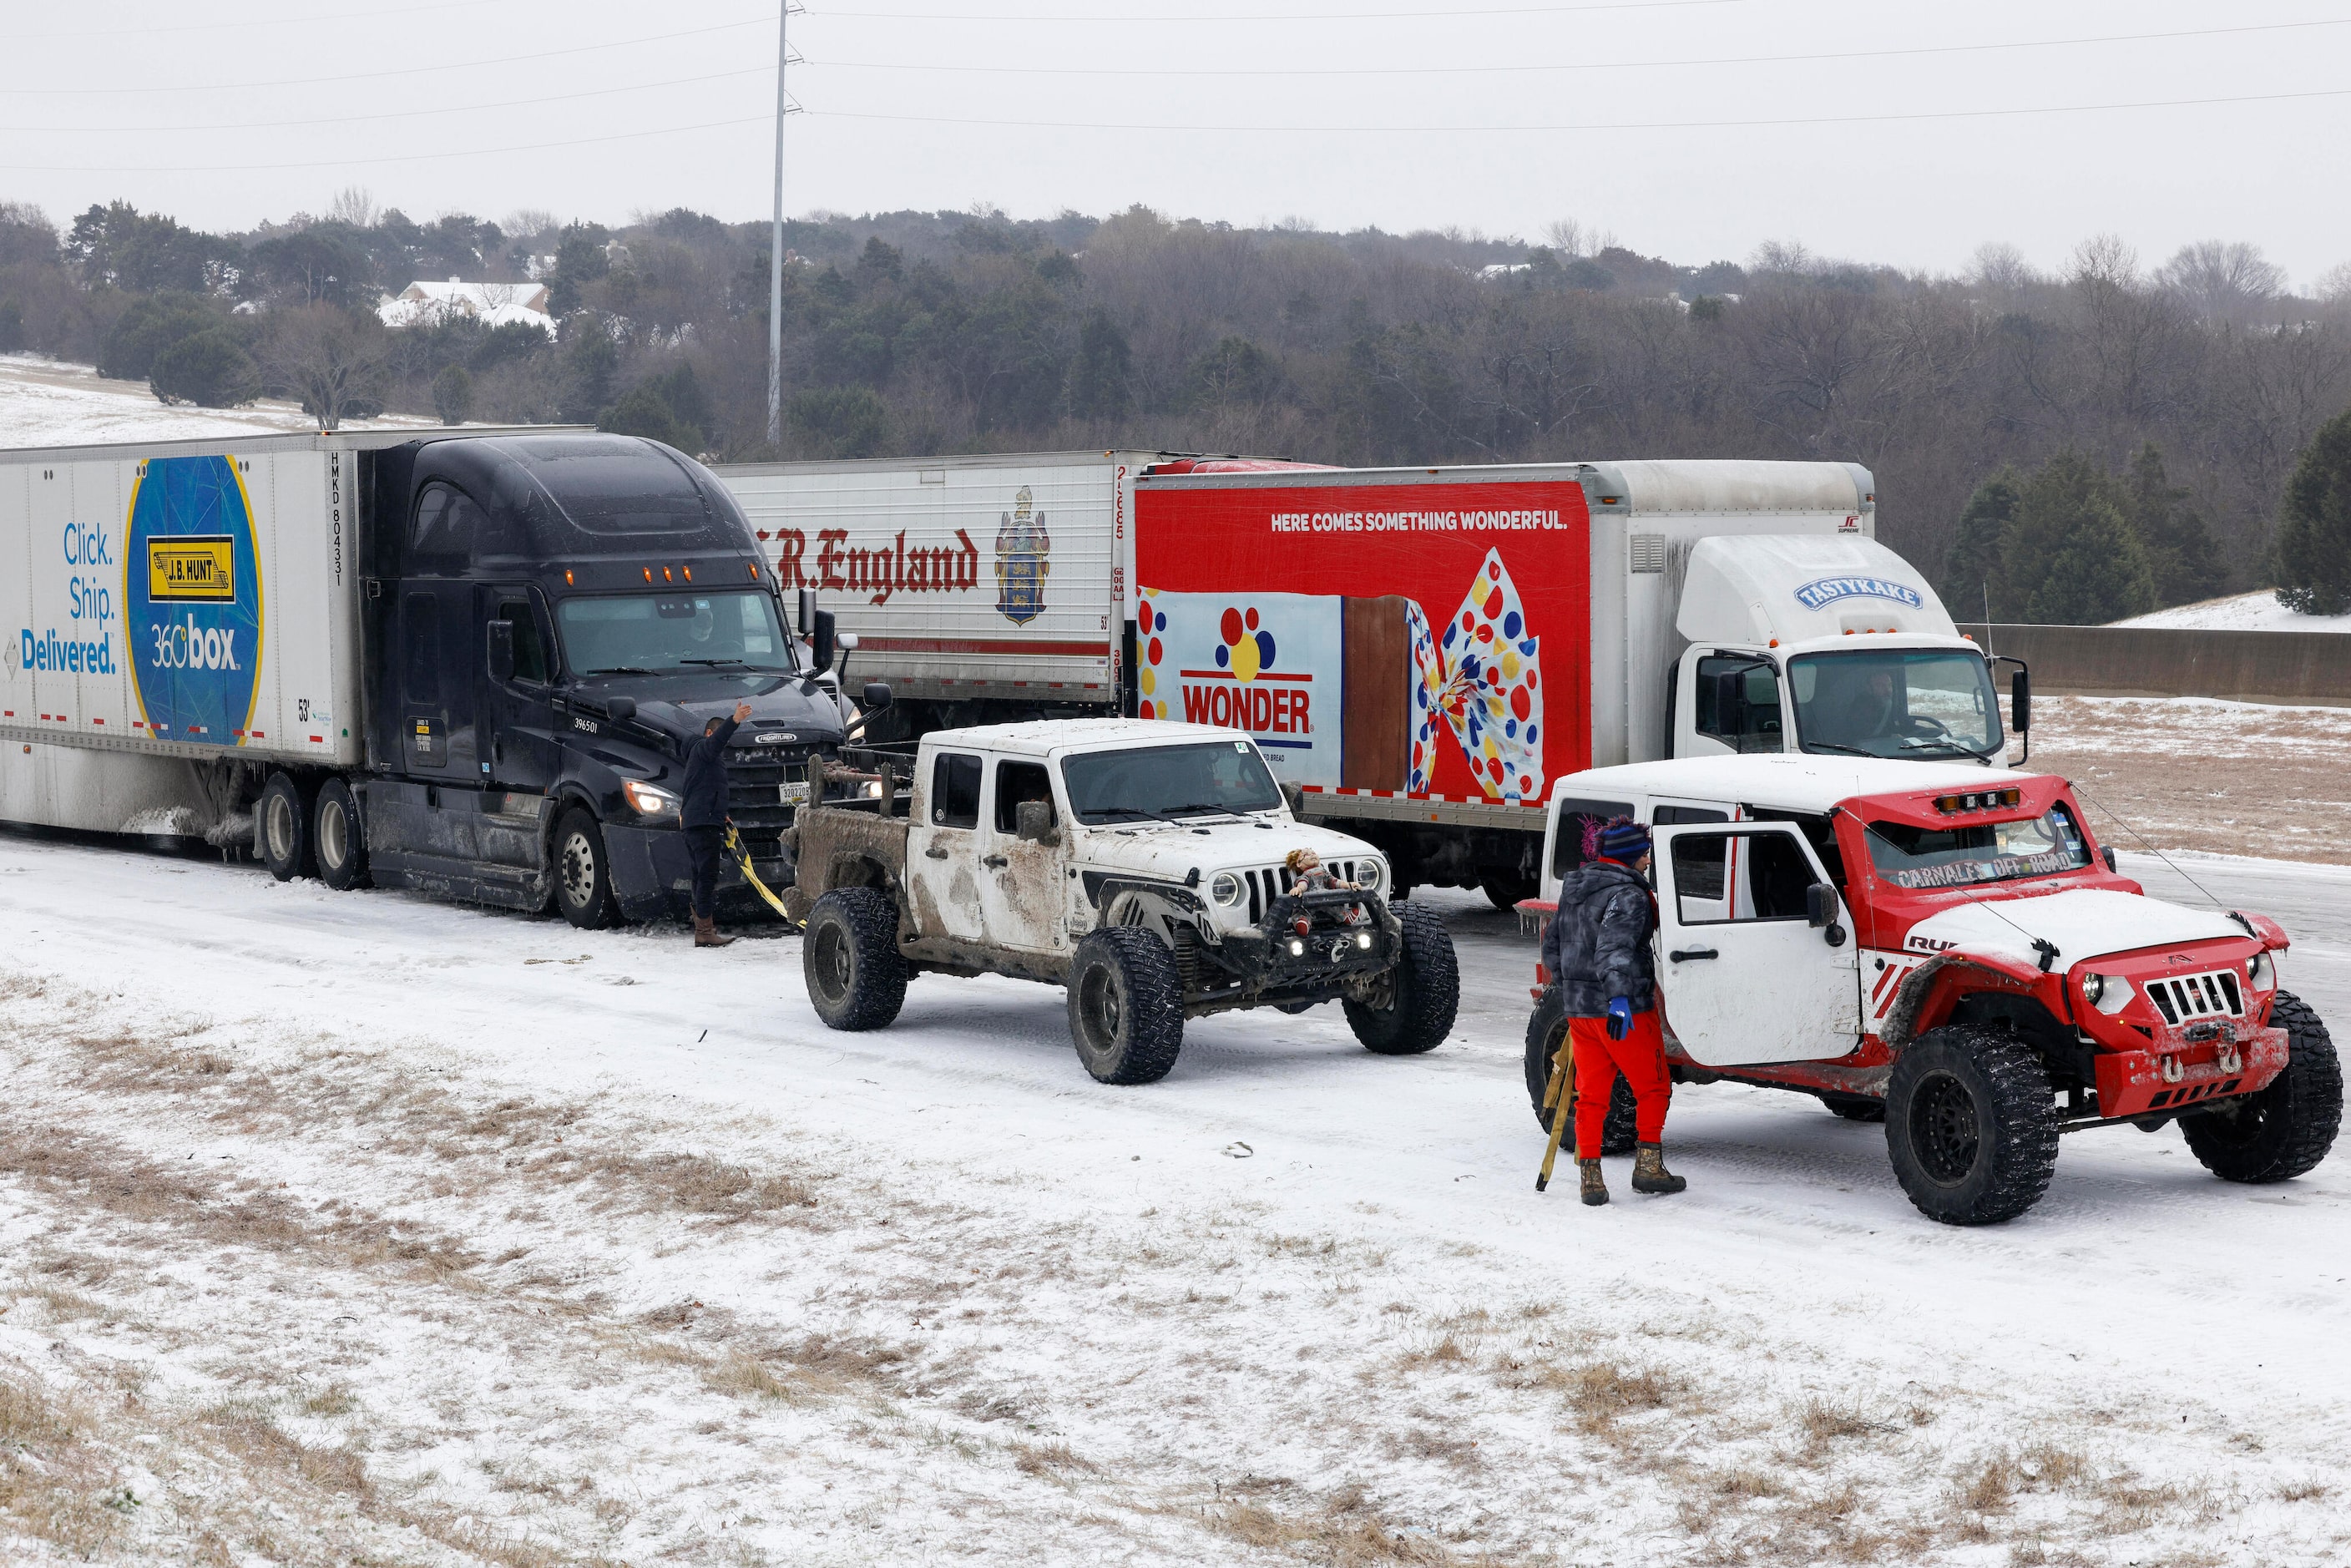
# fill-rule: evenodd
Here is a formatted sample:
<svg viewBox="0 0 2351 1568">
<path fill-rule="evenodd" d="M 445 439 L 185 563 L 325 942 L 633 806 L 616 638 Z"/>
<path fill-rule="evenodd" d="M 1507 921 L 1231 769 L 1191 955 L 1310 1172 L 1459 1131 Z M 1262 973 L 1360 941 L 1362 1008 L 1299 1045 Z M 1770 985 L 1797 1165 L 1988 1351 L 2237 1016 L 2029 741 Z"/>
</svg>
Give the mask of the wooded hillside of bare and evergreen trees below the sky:
<svg viewBox="0 0 2351 1568">
<path fill-rule="evenodd" d="M 1881 538 L 1947 567 L 1958 614 L 2043 618 L 2276 581 L 2288 477 L 2351 404 L 2351 273 L 2297 296 L 2245 244 L 2142 268 L 2106 237 L 2059 273 L 1987 247 L 1928 277 L 1796 247 L 1683 266 L 1573 223 L 1545 240 L 1140 207 L 811 216 L 785 228 L 781 449 L 769 226 L 684 209 L 416 223 L 346 193 L 202 235 L 125 205 L 63 228 L 0 207 L 0 348 L 190 402 L 595 421 L 722 458 L 1850 458 L 1878 477 Z M 562 331 L 386 331 L 374 303 L 416 277 L 536 277 Z M 2095 520 L 2064 548 L 2036 522 L 2057 491 Z M 2116 585 L 2050 585 L 2106 548 Z"/>
</svg>

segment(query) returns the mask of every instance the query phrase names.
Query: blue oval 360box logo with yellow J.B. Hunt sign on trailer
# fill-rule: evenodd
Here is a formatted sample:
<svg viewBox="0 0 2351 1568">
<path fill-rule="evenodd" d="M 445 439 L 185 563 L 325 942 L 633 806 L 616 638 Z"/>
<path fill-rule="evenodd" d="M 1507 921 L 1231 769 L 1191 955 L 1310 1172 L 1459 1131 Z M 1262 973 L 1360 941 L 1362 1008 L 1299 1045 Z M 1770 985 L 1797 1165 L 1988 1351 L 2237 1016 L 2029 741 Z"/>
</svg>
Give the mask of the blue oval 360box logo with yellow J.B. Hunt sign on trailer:
<svg viewBox="0 0 2351 1568">
<path fill-rule="evenodd" d="M 122 602 L 155 736 L 237 745 L 261 668 L 261 564 L 237 461 L 150 458 L 132 489 Z"/>
</svg>

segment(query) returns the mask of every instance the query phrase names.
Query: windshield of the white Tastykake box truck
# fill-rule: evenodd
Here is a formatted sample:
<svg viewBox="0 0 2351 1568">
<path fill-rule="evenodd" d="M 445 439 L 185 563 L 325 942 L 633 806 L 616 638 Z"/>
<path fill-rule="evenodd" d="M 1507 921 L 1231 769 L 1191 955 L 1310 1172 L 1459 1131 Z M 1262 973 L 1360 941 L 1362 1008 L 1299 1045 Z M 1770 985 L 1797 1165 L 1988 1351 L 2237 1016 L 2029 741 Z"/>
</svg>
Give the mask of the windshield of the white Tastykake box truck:
<svg viewBox="0 0 2351 1568">
<path fill-rule="evenodd" d="M 1796 743 L 1864 757 L 1984 757 L 2003 745 L 1982 654 L 1855 649 L 1789 661 Z"/>
</svg>

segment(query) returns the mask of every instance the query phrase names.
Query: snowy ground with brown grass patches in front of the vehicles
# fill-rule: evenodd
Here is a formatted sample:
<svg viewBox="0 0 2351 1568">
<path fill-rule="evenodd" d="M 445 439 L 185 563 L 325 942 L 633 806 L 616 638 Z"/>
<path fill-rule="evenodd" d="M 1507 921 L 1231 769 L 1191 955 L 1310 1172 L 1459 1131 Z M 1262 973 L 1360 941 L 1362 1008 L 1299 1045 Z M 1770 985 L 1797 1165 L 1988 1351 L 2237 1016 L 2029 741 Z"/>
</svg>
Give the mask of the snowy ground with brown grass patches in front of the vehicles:
<svg viewBox="0 0 2351 1568">
<path fill-rule="evenodd" d="M 2351 1018 L 2351 870 L 2179 865 Z M 2351 1164 L 2099 1128 L 1963 1232 L 1714 1086 L 1686 1197 L 1538 1197 L 1531 945 L 1439 903 L 1432 1056 L 1103 1088 L 1034 985 L 830 1034 L 788 938 L 0 835 L 0 1556 L 2351 1559 Z"/>
</svg>

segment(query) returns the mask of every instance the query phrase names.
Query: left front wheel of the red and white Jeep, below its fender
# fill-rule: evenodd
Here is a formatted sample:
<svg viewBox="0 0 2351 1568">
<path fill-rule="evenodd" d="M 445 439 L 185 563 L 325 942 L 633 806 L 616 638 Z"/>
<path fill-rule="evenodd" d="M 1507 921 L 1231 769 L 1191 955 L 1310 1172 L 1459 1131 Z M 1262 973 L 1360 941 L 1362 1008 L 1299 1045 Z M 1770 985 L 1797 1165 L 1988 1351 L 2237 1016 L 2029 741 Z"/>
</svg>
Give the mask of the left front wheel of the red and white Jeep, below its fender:
<svg viewBox="0 0 2351 1568">
<path fill-rule="evenodd" d="M 2041 1058 L 1996 1030 L 1928 1030 L 1886 1084 L 1886 1154 L 1930 1220 L 1996 1225 L 2048 1192 L 2057 1103 Z"/>
</svg>

